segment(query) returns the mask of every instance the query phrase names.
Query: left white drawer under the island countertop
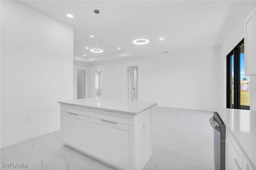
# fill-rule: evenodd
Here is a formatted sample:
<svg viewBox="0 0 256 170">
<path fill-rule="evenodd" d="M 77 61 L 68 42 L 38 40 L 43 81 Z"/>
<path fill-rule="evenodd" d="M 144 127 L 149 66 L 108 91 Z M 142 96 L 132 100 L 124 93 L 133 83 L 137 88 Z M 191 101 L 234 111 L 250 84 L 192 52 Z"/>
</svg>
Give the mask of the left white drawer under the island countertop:
<svg viewBox="0 0 256 170">
<path fill-rule="evenodd" d="M 61 104 L 60 111 L 74 113 L 74 114 L 83 115 L 83 116 L 89 116 L 89 109 L 86 107 Z"/>
</svg>

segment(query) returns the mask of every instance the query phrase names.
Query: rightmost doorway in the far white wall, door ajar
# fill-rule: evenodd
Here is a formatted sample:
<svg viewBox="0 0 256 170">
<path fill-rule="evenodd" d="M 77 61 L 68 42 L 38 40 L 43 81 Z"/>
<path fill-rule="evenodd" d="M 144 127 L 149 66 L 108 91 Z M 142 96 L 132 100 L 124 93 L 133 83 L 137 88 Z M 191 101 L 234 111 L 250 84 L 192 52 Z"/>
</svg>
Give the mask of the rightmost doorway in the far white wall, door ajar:
<svg viewBox="0 0 256 170">
<path fill-rule="evenodd" d="M 128 100 L 138 100 L 138 66 L 128 67 Z"/>
</svg>

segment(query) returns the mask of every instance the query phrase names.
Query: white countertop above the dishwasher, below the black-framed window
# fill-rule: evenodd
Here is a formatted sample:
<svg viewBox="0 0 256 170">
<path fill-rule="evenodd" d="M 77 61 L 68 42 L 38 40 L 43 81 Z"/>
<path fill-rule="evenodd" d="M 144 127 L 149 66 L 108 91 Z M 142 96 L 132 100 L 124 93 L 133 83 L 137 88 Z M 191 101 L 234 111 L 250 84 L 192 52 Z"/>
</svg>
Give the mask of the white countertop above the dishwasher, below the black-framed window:
<svg viewBox="0 0 256 170">
<path fill-rule="evenodd" d="M 256 111 L 217 108 L 217 112 L 248 162 L 256 169 Z"/>
</svg>

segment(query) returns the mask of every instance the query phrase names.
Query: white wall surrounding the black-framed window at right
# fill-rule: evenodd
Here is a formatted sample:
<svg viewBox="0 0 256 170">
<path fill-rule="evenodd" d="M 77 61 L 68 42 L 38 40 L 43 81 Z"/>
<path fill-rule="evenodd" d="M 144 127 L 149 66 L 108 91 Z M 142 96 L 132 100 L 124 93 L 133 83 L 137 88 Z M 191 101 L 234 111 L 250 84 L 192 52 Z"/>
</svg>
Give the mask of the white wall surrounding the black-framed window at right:
<svg viewBox="0 0 256 170">
<path fill-rule="evenodd" d="M 221 93 L 220 93 L 220 107 L 226 107 L 226 56 L 230 51 L 244 38 L 244 20 L 256 5 L 255 1 L 247 1 L 244 3 L 239 16 L 236 18 L 236 22 L 229 32 L 226 33 L 226 37 L 222 43 L 221 49 Z M 250 77 L 250 109 L 256 110 L 256 77 Z"/>
</svg>

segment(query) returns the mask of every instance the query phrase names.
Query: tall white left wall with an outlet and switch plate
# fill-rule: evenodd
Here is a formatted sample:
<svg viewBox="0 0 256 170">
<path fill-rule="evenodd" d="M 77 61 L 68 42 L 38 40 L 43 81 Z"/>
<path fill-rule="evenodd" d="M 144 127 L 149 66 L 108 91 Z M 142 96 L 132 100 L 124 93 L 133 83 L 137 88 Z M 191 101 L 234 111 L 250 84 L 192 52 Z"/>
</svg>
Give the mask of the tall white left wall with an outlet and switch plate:
<svg viewBox="0 0 256 170">
<path fill-rule="evenodd" d="M 73 33 L 20 2 L 1 1 L 1 147 L 60 128 L 57 102 L 73 95 Z"/>
</svg>

